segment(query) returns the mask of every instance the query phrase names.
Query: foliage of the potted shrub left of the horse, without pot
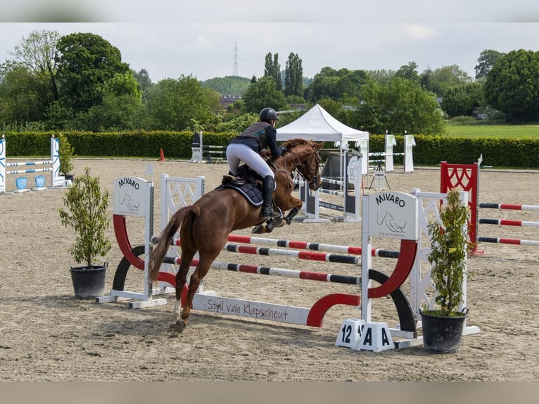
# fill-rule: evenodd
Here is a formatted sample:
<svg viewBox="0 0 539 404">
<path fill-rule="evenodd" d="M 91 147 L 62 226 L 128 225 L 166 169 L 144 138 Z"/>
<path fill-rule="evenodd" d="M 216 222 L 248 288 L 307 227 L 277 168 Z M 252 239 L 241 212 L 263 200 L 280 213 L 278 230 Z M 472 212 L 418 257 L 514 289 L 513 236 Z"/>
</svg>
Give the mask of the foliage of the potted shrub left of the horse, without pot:
<svg viewBox="0 0 539 404">
<path fill-rule="evenodd" d="M 73 180 L 63 198 L 65 210 L 59 209 L 61 223 L 75 229 L 75 243 L 70 253 L 75 263 L 92 268 L 97 257 L 104 257 L 112 247 L 106 236 L 110 220 L 107 217 L 108 191 L 102 191 L 99 176 L 92 177 L 90 169 Z"/>
</svg>

